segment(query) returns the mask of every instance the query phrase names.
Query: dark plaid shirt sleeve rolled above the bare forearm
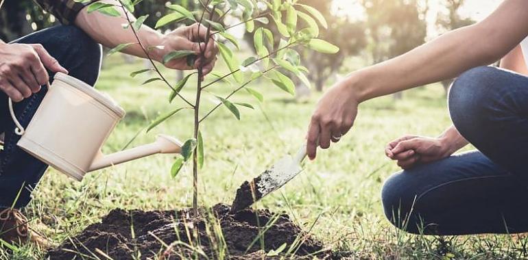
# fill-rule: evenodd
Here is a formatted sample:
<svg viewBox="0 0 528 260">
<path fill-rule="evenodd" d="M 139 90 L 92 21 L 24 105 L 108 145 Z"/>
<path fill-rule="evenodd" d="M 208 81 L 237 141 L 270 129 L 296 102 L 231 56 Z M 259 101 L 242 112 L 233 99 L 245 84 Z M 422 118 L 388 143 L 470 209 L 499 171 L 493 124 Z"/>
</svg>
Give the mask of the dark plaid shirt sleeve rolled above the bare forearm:
<svg viewBox="0 0 528 260">
<path fill-rule="evenodd" d="M 34 0 L 41 8 L 53 14 L 60 23 L 64 25 L 71 25 L 75 21 L 75 17 L 90 3 L 97 0 L 86 1 L 83 3 L 76 2 L 74 0 Z"/>
</svg>

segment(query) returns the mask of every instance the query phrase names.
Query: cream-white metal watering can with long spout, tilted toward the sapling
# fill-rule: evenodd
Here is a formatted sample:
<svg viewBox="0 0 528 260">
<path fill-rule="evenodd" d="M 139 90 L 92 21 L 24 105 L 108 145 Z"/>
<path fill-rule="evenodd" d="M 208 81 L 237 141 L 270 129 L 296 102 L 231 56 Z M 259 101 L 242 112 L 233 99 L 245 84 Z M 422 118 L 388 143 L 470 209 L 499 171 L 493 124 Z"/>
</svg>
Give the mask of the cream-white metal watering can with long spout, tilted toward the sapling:
<svg viewBox="0 0 528 260">
<path fill-rule="evenodd" d="M 27 129 L 16 120 L 9 99 L 15 133 L 22 135 L 17 145 L 27 153 L 77 181 L 82 181 L 86 172 L 125 161 L 156 153 L 181 153 L 180 141 L 158 135 L 152 144 L 104 155 L 101 147 L 125 111 L 79 79 L 63 73 L 54 79 Z"/>
</svg>

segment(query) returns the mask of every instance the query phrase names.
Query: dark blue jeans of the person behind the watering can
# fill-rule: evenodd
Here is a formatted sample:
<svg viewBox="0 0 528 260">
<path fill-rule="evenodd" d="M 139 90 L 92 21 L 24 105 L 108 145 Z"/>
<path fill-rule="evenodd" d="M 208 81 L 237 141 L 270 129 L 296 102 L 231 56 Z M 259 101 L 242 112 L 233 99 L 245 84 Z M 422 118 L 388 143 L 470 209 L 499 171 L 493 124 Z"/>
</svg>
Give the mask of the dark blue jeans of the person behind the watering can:
<svg viewBox="0 0 528 260">
<path fill-rule="evenodd" d="M 82 30 L 74 26 L 56 26 L 29 34 L 15 43 L 42 44 L 55 57 L 69 75 L 93 86 L 101 67 L 101 46 Z M 48 72 L 50 79 L 53 73 Z M 29 124 L 43 100 L 47 88 L 15 103 L 14 112 L 23 127 Z M 0 91 L 0 133 L 5 132 L 5 145 L 0 151 L 0 207 L 25 207 L 31 193 L 43 176 L 47 165 L 16 146 L 20 136 L 8 109 L 8 96 Z M 19 194 L 17 198 L 17 195 Z"/>
</svg>

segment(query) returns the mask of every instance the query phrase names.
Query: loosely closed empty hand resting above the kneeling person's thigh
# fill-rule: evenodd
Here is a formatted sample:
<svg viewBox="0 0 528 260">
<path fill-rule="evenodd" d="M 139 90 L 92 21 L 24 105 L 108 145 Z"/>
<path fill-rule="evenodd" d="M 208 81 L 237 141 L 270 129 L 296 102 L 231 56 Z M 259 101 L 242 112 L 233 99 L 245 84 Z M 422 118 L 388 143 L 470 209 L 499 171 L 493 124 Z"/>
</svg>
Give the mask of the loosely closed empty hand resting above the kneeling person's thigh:
<svg viewBox="0 0 528 260">
<path fill-rule="evenodd" d="M 398 161 L 398 166 L 407 170 L 417 164 L 444 159 L 453 154 L 442 138 L 426 138 L 405 135 L 387 144 L 385 155 Z"/>
</svg>

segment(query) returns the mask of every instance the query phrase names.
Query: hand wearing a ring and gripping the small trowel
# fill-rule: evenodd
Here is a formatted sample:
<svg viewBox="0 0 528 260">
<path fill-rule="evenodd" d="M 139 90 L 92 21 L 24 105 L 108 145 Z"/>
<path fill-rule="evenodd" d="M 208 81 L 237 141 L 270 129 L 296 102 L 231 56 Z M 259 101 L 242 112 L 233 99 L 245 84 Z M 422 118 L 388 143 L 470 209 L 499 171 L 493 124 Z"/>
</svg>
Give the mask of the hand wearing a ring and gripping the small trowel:
<svg viewBox="0 0 528 260">
<path fill-rule="evenodd" d="M 350 84 L 341 81 L 328 90 L 317 104 L 307 135 L 307 154 L 315 159 L 317 146 L 330 147 L 339 142 L 357 116 L 359 101 Z"/>
</svg>

